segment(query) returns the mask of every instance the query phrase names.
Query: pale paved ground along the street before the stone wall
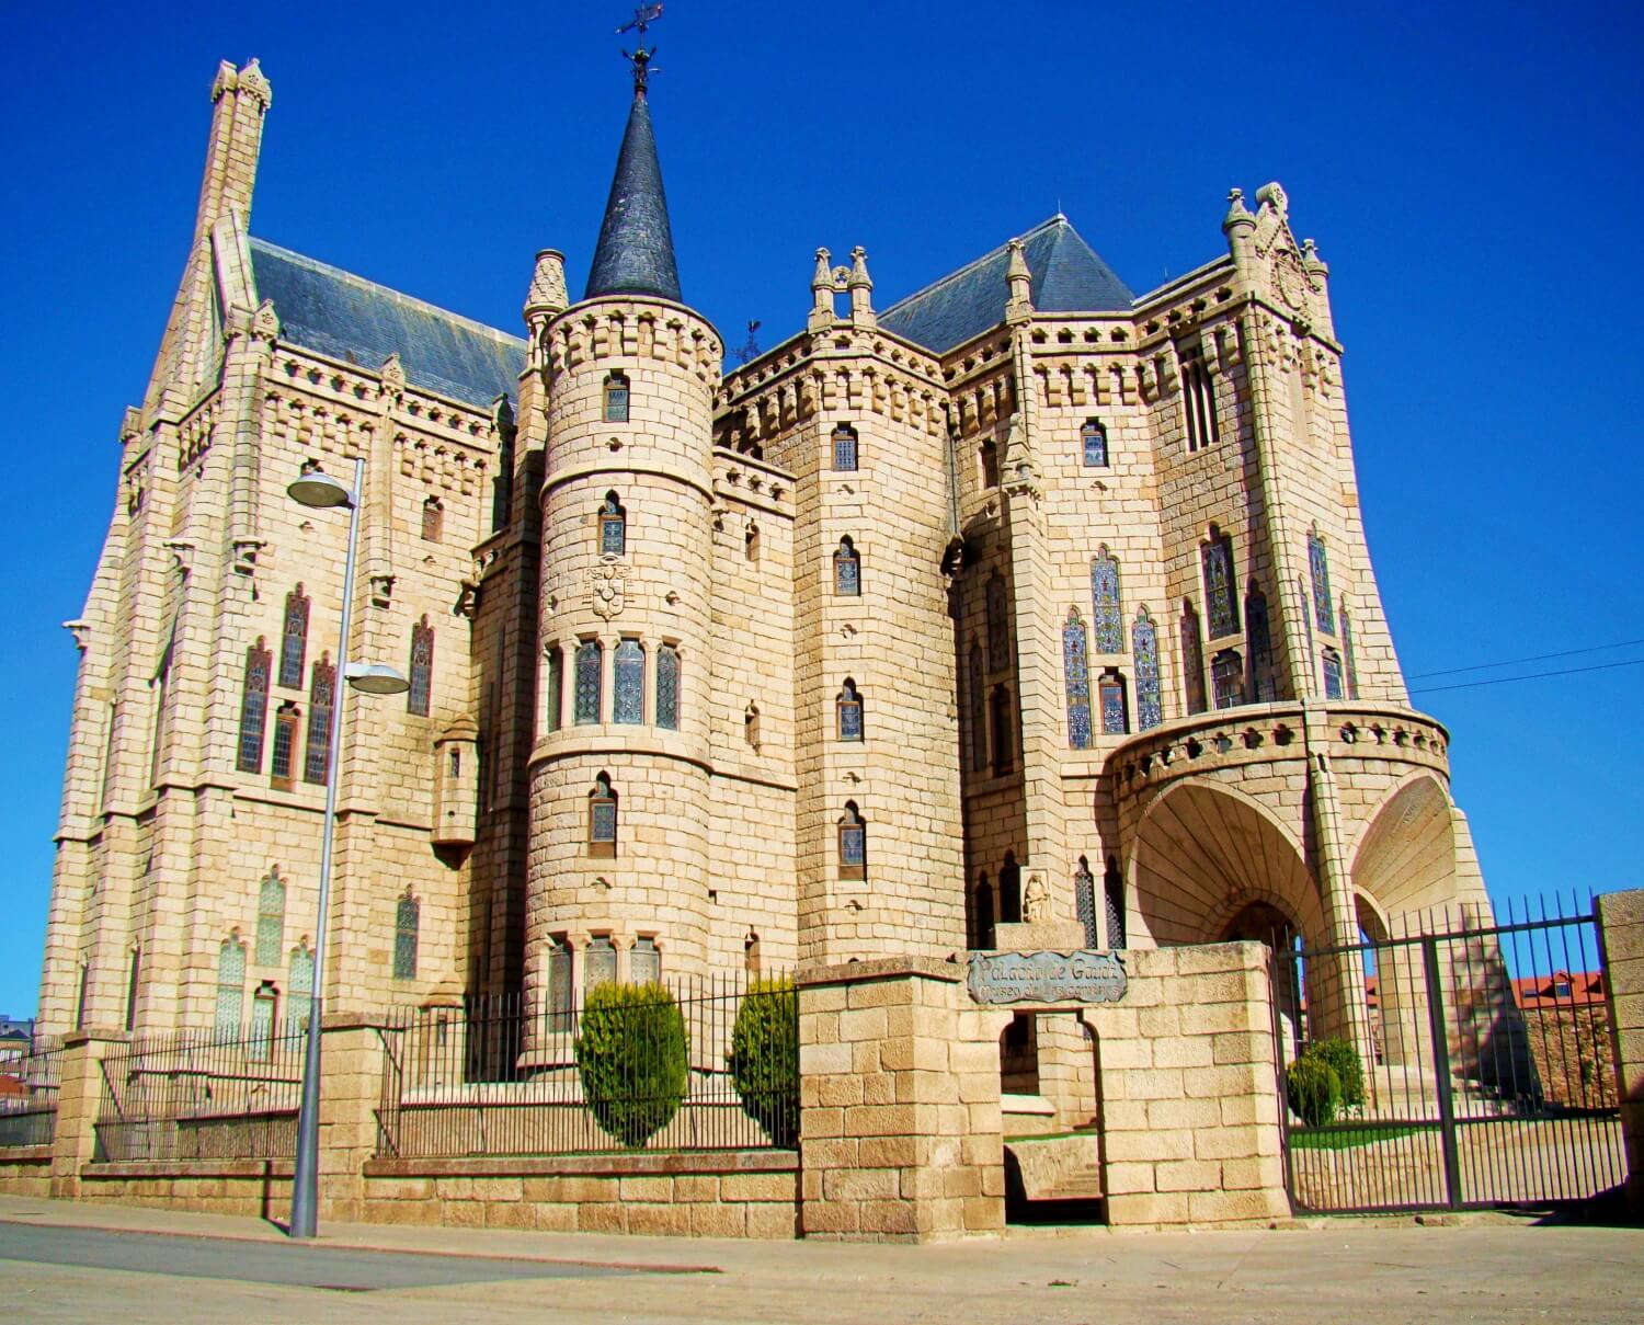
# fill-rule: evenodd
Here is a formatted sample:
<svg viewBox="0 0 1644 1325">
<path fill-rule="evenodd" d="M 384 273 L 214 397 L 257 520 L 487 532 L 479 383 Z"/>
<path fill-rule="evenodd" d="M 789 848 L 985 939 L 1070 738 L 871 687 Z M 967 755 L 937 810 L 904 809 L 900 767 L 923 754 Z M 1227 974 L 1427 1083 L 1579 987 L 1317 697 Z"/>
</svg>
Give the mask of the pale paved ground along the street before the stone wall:
<svg viewBox="0 0 1644 1325">
<path fill-rule="evenodd" d="M 132 1207 L 0 1197 L 5 1236 L 51 1228 L 148 1233 L 281 1244 L 258 1220 Z M 8 1228 L 10 1226 L 10 1228 Z M 41 1231 L 44 1230 L 44 1233 Z M 64 1235 L 67 1240 L 69 1235 Z M 227 1240 L 227 1241 L 219 1241 Z M 105 1238 L 104 1241 L 118 1241 Z M 125 1240 L 132 1241 L 132 1240 Z M 38 1244 L 38 1243 L 36 1243 Z M 158 1244 L 158 1243 L 156 1243 Z M 306 1246 L 306 1244 L 296 1244 Z M 419 1258 L 483 1258 L 432 1267 L 411 1287 L 360 1289 L 268 1282 L 191 1269 L 202 1248 L 130 1258 L 109 1267 L 0 1259 L 0 1281 L 21 1320 L 130 1322 L 302 1318 L 423 1325 L 483 1318 L 559 1322 L 1632 1322 L 1644 1290 L 1644 1230 L 1535 1226 L 1471 1217 L 1453 1226 L 1332 1221 L 1238 1233 L 1018 1235 L 939 1246 L 732 1243 L 378 1225 L 332 1225 L 317 1246 L 375 1248 Z M 268 1248 L 271 1251 L 271 1248 Z M 77 1253 L 79 1254 L 79 1253 Z M 261 1254 L 261 1253 L 258 1253 Z M 256 1254 L 242 1254 L 247 1267 Z M 288 1258 L 289 1259 L 289 1258 Z M 368 1261 L 370 1258 L 355 1258 Z M 526 1264 L 498 1277 L 495 1263 Z M 105 1264 L 105 1263 L 97 1263 Z M 648 1269 L 620 1274 L 612 1267 Z M 437 1271 L 437 1272 L 432 1272 Z M 661 1272 L 659 1272 L 661 1271 Z M 206 1274 L 207 1277 L 192 1277 Z M 316 1276 L 317 1282 L 317 1276 Z M 396 1281 L 398 1282 L 398 1281 Z"/>
</svg>

